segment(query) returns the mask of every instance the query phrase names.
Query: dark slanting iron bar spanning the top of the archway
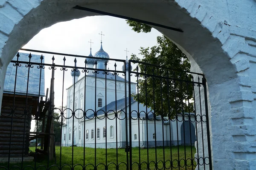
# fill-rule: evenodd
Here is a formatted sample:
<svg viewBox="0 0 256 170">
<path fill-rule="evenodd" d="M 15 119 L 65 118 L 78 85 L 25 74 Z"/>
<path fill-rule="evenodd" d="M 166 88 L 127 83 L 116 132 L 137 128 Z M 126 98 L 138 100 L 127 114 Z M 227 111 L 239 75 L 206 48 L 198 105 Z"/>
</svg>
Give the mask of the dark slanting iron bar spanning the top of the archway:
<svg viewBox="0 0 256 170">
<path fill-rule="evenodd" d="M 151 25 L 151 26 L 158 26 L 158 27 L 161 27 L 161 28 L 170 29 L 170 30 L 177 31 L 177 32 L 183 32 L 182 29 L 173 28 L 171 26 L 165 26 L 165 25 L 158 24 L 158 23 L 152 23 L 152 22 L 149 22 L 149 21 L 140 20 L 140 19 L 136 19 L 136 18 L 132 18 L 132 17 L 126 17 L 126 16 L 123 16 L 123 15 L 118 15 L 118 14 L 113 14 L 113 13 L 109 13 L 109 12 L 99 11 L 99 10 L 96 10 L 96 9 L 85 8 L 85 7 L 82 7 L 82 6 L 75 6 L 73 8 L 83 10 L 83 11 L 93 12 L 93 13 L 97 13 L 97 14 L 103 14 L 103 15 L 109 15 L 109 16 L 112 16 L 112 17 L 118 17 L 118 18 L 122 18 L 122 19 L 125 19 L 125 20 L 133 20 L 133 21 L 136 21 L 136 22 L 139 22 L 139 23 L 145 23 L 145 24 L 148 24 L 148 25 Z"/>
</svg>

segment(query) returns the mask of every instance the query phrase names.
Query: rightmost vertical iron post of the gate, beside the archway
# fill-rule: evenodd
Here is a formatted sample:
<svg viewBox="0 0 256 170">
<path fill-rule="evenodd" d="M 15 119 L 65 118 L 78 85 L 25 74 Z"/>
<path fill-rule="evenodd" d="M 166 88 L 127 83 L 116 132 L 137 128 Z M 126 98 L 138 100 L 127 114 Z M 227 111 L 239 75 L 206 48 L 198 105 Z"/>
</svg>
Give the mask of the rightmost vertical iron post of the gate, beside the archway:
<svg viewBox="0 0 256 170">
<path fill-rule="evenodd" d="M 210 139 L 210 127 L 209 127 L 209 115 L 208 115 L 208 100 L 207 100 L 207 86 L 206 78 L 203 76 L 204 86 L 204 104 L 205 104 L 205 115 L 206 115 L 206 126 L 207 126 L 207 142 L 208 142 L 208 155 L 209 155 L 209 168 L 212 170 L 212 152 L 211 152 L 211 139 Z"/>
</svg>

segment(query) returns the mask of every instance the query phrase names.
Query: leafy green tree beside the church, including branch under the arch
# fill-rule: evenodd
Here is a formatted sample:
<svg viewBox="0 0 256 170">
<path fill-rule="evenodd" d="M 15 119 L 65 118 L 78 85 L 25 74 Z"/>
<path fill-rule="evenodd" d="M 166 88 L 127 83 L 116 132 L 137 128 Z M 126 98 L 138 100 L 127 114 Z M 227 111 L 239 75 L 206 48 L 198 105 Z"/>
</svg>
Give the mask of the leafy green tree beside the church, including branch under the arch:
<svg viewBox="0 0 256 170">
<path fill-rule="evenodd" d="M 146 24 L 129 20 L 127 23 L 136 32 L 151 31 Z M 141 47 L 140 55 L 142 59 L 134 54 L 131 57 L 143 62 L 134 69 L 142 73 L 138 75 L 139 94 L 134 98 L 154 109 L 156 115 L 173 118 L 177 113 L 193 112 L 193 84 L 189 83 L 192 75 L 184 72 L 190 69 L 186 55 L 165 36 L 157 37 L 156 46 Z"/>
</svg>

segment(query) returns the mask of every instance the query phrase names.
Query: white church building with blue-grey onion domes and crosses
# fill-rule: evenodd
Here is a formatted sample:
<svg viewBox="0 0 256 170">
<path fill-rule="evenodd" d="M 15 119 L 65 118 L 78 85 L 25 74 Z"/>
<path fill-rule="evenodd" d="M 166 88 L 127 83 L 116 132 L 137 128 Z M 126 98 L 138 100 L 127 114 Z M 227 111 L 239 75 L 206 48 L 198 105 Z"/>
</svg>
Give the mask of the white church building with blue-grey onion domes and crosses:
<svg viewBox="0 0 256 170">
<path fill-rule="evenodd" d="M 102 42 L 99 51 L 94 56 L 90 49 L 89 56 L 109 58 L 108 53 L 102 48 Z M 87 58 L 86 61 L 87 68 L 106 69 L 106 60 Z M 128 68 L 128 62 L 126 63 L 126 68 Z M 122 66 L 122 71 L 126 71 L 126 75 L 128 75 L 128 69 L 125 70 L 124 66 Z M 129 143 L 129 118 L 127 118 L 127 122 L 125 119 L 126 110 L 129 115 L 128 95 L 125 100 L 125 93 L 128 94 L 125 91 L 125 86 L 128 91 L 128 81 L 125 83 L 125 78 L 114 75 L 112 72 L 105 75 L 100 71 L 99 74 L 96 74 L 94 70 L 89 70 L 82 78 L 79 78 L 79 70 L 71 72 L 71 75 L 75 85 L 67 88 L 67 119 L 66 124 L 62 127 L 62 146 L 124 148 L 126 146 L 126 127 Z M 131 82 L 131 93 L 136 94 L 136 91 L 137 83 Z M 138 108 L 140 118 L 137 116 Z M 160 118 L 154 120 L 154 111 L 146 108 L 143 104 L 138 104 L 133 98 L 131 98 L 131 110 L 132 144 L 129 144 L 130 146 L 155 147 L 195 144 L 194 116 L 190 117 L 190 121 L 188 116 L 181 114 L 175 120 L 162 121 Z M 105 112 L 108 113 L 107 116 L 105 116 Z M 145 112 L 148 112 L 147 119 Z"/>
</svg>

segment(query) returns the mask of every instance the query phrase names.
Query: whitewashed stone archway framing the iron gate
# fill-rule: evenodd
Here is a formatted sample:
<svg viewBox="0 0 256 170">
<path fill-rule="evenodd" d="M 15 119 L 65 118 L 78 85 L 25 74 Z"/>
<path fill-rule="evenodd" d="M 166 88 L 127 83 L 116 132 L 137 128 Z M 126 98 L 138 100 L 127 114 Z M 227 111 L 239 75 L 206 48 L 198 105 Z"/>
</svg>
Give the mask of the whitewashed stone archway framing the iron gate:
<svg viewBox="0 0 256 170">
<path fill-rule="evenodd" d="M 0 101 L 6 67 L 12 56 L 41 29 L 54 23 L 95 15 L 72 9 L 80 5 L 183 29 L 155 27 L 173 40 L 201 71 L 209 88 L 212 154 L 215 169 L 250 169 L 256 93 L 256 2 L 172 0 L 149 3 L 126 0 L 4 0 L 0 3 Z M 250 137 L 247 137 L 250 136 Z M 236 147 L 235 147 L 236 146 Z M 248 149 L 249 148 L 249 149 Z M 223 154 L 220 154 L 223 153 Z M 226 168 L 226 167 L 228 168 Z"/>
</svg>

